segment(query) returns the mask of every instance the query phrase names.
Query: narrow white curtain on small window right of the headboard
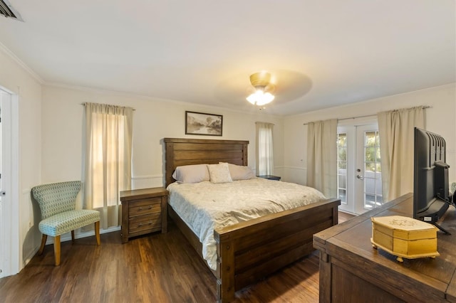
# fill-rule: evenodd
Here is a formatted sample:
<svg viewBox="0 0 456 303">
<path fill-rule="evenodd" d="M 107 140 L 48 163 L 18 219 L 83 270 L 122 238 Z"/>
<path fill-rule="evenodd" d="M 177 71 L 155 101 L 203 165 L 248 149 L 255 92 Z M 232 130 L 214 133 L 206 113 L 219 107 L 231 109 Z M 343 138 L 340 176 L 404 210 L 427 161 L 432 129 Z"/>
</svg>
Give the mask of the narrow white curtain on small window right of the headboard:
<svg viewBox="0 0 456 303">
<path fill-rule="evenodd" d="M 257 124 L 257 175 L 274 174 L 274 144 L 272 131 L 274 124 L 256 122 Z"/>
</svg>

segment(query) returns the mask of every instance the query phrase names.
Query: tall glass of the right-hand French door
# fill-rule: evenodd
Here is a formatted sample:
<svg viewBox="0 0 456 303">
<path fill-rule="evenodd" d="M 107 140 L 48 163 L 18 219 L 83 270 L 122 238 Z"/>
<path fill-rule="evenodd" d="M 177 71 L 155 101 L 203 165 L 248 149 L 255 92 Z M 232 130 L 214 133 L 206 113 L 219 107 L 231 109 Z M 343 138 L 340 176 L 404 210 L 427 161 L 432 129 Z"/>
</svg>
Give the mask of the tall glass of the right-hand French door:
<svg viewBox="0 0 456 303">
<path fill-rule="evenodd" d="M 372 209 L 383 204 L 378 132 L 365 132 L 364 142 L 364 208 Z"/>
</svg>

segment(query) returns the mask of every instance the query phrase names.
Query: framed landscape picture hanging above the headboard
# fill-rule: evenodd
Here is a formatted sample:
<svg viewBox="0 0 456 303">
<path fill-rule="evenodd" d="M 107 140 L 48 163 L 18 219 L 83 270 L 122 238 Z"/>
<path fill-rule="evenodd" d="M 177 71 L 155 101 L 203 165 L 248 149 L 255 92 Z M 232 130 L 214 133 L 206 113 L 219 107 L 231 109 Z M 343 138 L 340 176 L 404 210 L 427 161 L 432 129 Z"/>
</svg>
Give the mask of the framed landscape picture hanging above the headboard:
<svg viewBox="0 0 456 303">
<path fill-rule="evenodd" d="M 185 111 L 185 134 L 222 136 L 223 116 Z"/>
</svg>

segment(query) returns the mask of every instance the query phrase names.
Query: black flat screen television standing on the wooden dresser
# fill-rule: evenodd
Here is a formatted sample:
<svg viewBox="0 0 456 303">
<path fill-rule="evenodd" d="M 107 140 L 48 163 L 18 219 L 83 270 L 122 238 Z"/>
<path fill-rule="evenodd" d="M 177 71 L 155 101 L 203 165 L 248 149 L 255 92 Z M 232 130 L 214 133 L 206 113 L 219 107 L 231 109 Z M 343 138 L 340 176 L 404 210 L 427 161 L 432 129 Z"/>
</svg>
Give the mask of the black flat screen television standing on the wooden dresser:
<svg viewBox="0 0 456 303">
<path fill-rule="evenodd" d="M 437 225 L 450 206 L 445 139 L 415 127 L 414 148 L 413 218 L 448 233 Z"/>
</svg>

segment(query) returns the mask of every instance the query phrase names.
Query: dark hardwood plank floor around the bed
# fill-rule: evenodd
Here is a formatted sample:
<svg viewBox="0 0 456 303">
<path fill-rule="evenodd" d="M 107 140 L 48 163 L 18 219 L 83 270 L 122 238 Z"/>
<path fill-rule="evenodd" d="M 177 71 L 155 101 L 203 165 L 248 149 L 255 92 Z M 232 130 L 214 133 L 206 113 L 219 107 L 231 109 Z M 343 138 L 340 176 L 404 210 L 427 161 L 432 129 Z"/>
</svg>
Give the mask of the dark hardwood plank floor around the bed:
<svg viewBox="0 0 456 303">
<path fill-rule="evenodd" d="M 339 222 L 351 218 L 339 212 Z M 0 302 L 215 302 L 216 280 L 175 225 L 121 244 L 120 232 L 53 245 L 0 279 Z M 318 252 L 236 293 L 235 302 L 318 302 Z"/>
</svg>

